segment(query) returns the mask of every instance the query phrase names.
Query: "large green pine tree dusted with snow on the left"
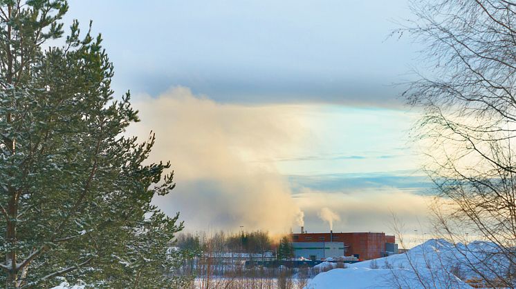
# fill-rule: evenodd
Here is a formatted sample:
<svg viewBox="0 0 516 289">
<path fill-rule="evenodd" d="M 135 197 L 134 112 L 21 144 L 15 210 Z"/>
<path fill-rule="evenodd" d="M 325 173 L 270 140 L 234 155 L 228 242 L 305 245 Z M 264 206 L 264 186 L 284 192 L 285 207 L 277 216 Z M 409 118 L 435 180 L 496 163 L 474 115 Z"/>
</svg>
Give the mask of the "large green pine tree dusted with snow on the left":
<svg viewBox="0 0 516 289">
<path fill-rule="evenodd" d="M 0 0 L 0 286 L 178 286 L 166 249 L 183 224 L 151 205 L 169 163 L 143 164 L 154 134 L 124 137 L 129 93 L 113 100 L 100 35 L 75 21 L 62 38 L 67 9 Z"/>
</svg>

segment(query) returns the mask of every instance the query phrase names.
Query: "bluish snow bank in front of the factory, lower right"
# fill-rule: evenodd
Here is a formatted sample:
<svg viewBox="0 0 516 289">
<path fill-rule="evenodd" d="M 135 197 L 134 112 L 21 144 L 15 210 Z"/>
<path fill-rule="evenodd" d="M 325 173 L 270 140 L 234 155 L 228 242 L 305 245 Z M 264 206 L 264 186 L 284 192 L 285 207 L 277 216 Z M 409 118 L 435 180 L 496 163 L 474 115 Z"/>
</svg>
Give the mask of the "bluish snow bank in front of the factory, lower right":
<svg viewBox="0 0 516 289">
<path fill-rule="evenodd" d="M 504 264 L 508 262 L 503 255 L 494 254 L 497 251 L 497 247 L 488 242 L 475 241 L 466 246 L 432 239 L 406 254 L 322 272 L 308 283 L 306 289 L 472 288 L 465 281 L 479 277 L 477 272 L 488 278 L 504 275 Z"/>
</svg>

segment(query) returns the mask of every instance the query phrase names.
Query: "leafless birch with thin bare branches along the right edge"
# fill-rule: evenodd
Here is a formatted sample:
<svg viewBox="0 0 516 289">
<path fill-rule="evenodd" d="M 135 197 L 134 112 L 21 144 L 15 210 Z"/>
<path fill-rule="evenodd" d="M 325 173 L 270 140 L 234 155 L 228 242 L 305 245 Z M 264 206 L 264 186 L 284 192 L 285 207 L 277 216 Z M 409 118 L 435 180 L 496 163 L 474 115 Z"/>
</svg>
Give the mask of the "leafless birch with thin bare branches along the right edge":
<svg viewBox="0 0 516 289">
<path fill-rule="evenodd" d="M 468 252 L 461 259 L 486 286 L 513 287 L 516 2 L 414 0 L 411 7 L 417 19 L 398 32 L 423 43 L 430 70 L 403 95 L 423 110 L 416 135 L 442 197 L 436 229 L 455 242 L 495 243 L 481 259 Z"/>
</svg>

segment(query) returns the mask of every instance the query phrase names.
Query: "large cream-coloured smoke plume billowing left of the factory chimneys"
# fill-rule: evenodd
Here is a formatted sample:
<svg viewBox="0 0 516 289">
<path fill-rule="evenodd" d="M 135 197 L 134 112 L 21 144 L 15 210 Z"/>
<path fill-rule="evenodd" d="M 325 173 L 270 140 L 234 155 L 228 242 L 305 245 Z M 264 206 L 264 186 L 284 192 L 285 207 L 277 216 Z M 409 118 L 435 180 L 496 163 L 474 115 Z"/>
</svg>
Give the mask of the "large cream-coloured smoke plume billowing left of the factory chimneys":
<svg viewBox="0 0 516 289">
<path fill-rule="evenodd" d="M 128 133 L 156 132 L 151 160 L 170 160 L 176 172 L 176 188 L 156 204 L 181 212 L 187 230 L 282 233 L 303 222 L 286 178 L 259 161 L 302 142 L 302 108 L 221 104 L 187 88 L 138 97 L 134 106 L 142 121 Z"/>
</svg>

